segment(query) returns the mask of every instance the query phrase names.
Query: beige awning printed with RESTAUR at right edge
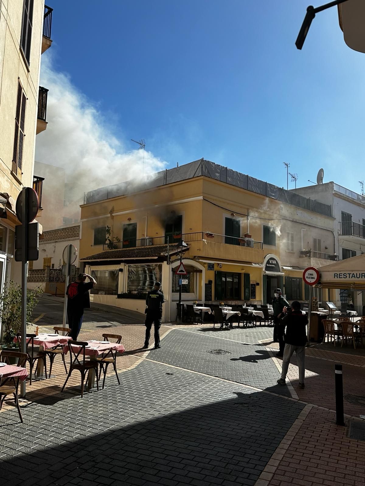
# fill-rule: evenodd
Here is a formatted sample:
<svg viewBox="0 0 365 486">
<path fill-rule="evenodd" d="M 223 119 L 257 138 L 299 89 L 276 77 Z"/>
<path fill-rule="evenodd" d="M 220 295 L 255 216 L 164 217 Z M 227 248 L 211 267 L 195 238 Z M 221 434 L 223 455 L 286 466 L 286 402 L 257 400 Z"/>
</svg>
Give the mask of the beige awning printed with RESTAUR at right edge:
<svg viewBox="0 0 365 486">
<path fill-rule="evenodd" d="M 334 261 L 318 268 L 321 277 L 317 286 L 326 289 L 365 290 L 365 253 L 346 260 Z"/>
</svg>

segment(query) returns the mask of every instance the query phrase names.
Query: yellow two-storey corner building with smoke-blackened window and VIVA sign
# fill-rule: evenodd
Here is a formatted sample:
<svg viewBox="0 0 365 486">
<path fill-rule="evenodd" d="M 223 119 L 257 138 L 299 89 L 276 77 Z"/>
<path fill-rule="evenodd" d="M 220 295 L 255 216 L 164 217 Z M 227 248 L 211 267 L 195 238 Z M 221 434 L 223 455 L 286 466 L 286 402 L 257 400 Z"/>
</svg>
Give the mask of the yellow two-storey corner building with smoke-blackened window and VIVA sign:
<svg viewBox="0 0 365 486">
<path fill-rule="evenodd" d="M 124 183 L 86 194 L 80 265 L 98 282 L 93 301 L 144 312 L 157 279 L 164 319 L 174 319 L 182 240 L 184 303 L 266 303 L 276 287 L 305 301 L 303 270 L 338 259 L 330 206 L 213 162 L 164 171 L 139 189 Z"/>
</svg>

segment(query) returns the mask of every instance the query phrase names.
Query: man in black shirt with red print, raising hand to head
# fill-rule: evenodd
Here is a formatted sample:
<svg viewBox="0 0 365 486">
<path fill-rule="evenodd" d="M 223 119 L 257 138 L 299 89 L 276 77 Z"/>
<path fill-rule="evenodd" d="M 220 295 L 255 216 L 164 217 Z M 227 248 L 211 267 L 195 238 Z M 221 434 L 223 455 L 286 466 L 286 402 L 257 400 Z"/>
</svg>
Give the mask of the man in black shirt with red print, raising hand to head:
<svg viewBox="0 0 365 486">
<path fill-rule="evenodd" d="M 90 282 L 85 283 L 86 277 Z M 84 309 L 90 308 L 89 290 L 96 284 L 96 280 L 87 274 L 80 274 L 75 282 L 67 287 L 67 319 L 71 329 L 71 337 L 76 341 L 81 329 Z"/>
</svg>

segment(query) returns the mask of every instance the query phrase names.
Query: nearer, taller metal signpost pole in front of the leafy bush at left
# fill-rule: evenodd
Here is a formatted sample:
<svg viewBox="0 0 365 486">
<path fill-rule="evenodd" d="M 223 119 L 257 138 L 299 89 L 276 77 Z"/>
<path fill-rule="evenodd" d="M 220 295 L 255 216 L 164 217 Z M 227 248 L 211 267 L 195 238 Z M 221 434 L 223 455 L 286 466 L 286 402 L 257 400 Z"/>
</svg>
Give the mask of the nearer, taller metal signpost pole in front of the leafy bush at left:
<svg viewBox="0 0 365 486">
<path fill-rule="evenodd" d="M 28 274 L 28 200 L 27 188 L 22 189 L 23 207 L 22 207 L 22 259 L 21 259 L 21 341 L 20 349 L 26 353 L 27 347 L 27 274 Z M 20 397 L 25 398 L 25 382 L 20 382 Z"/>
</svg>

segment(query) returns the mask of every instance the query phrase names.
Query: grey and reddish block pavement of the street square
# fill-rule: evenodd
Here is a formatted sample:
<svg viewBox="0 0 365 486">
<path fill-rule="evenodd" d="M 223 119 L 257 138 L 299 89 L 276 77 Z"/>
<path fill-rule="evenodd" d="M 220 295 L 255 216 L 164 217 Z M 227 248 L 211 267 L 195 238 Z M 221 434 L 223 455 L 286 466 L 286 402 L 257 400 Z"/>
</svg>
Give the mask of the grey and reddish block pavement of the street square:
<svg viewBox="0 0 365 486">
<path fill-rule="evenodd" d="M 295 356 L 294 388 L 276 385 L 272 328 L 165 325 L 161 349 L 147 352 L 141 325 L 100 322 L 80 339 L 102 332 L 122 335 L 120 385 L 111 371 L 104 390 L 81 399 L 74 373 L 61 393 L 57 358 L 52 378 L 27 385 L 23 424 L 5 402 L 6 485 L 364 486 L 365 441 L 347 437 L 351 417 L 339 427 L 329 410 L 334 362 L 342 362 L 345 412 L 365 415 L 361 353 L 307 349 L 306 388 L 298 390 Z"/>
</svg>

